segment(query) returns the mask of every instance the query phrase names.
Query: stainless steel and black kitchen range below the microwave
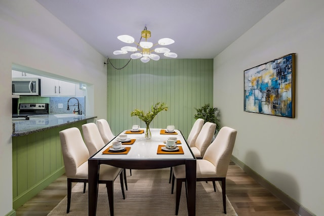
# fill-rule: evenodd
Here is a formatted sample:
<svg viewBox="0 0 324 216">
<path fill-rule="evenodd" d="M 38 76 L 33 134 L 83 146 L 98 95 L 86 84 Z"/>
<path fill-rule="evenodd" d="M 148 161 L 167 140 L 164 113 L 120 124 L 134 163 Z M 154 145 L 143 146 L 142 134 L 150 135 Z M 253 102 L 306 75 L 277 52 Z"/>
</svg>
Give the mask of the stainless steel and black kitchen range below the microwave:
<svg viewBox="0 0 324 216">
<path fill-rule="evenodd" d="M 29 120 L 29 117 L 48 117 L 49 104 L 23 103 L 19 104 L 19 114 L 12 114 L 12 120 Z"/>
</svg>

